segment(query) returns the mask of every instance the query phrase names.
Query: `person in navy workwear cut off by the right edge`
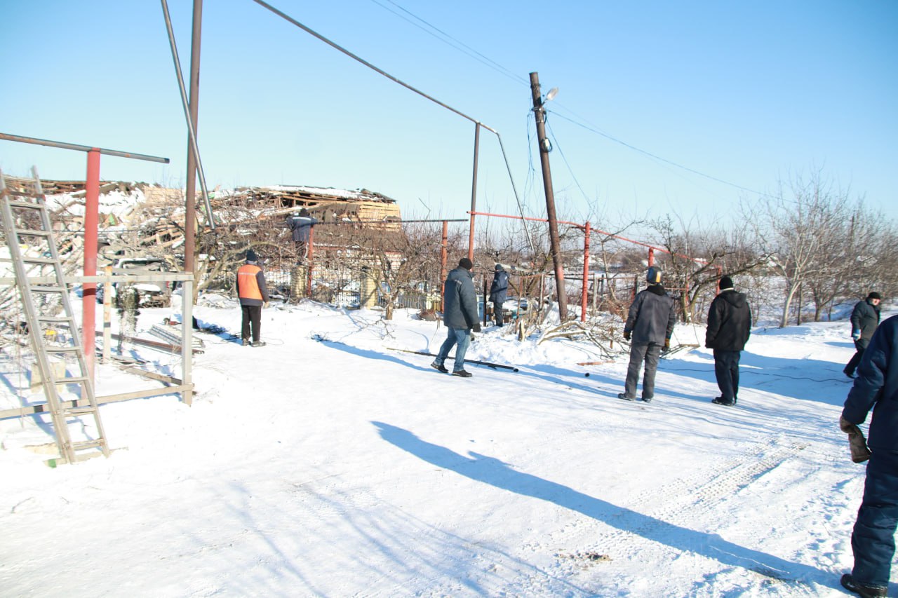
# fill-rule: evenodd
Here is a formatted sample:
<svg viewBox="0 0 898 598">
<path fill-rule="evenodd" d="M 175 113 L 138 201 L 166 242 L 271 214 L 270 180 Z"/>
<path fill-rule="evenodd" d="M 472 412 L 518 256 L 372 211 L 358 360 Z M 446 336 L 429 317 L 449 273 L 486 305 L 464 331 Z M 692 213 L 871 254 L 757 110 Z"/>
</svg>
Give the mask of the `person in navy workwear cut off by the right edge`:
<svg viewBox="0 0 898 598">
<path fill-rule="evenodd" d="M 851 532 L 854 567 L 841 585 L 862 596 L 885 596 L 898 524 L 898 316 L 870 339 L 842 409 L 841 429 L 850 434 L 871 409 L 867 479 Z"/>
</svg>

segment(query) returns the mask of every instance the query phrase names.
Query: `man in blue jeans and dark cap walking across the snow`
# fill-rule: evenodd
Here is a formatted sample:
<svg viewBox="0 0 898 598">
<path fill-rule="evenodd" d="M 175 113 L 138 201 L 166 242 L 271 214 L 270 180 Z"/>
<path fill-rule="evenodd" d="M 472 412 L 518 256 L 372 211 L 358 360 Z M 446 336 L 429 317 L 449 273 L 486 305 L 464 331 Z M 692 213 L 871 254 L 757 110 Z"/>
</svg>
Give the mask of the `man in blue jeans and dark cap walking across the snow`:
<svg viewBox="0 0 898 598">
<path fill-rule="evenodd" d="M 474 264 L 471 259 L 462 258 L 455 268 L 446 277 L 445 292 L 443 295 L 443 323 L 447 334 L 436 354 L 431 367 L 447 373 L 449 370 L 443 365 L 449 356 L 449 349 L 455 347 L 455 365 L 453 375 L 470 378 L 471 373 L 464 369 L 464 354 L 471 344 L 471 330 L 480 332 L 480 319 L 477 313 L 477 295 L 474 294 L 474 283 L 471 275 Z"/>
</svg>

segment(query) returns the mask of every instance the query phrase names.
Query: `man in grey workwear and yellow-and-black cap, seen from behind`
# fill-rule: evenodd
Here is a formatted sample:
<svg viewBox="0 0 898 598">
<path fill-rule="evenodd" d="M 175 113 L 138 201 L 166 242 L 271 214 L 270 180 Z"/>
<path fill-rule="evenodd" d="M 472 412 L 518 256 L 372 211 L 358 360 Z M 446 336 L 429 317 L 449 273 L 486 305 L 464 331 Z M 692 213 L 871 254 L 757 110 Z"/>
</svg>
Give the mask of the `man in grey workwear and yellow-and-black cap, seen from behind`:
<svg viewBox="0 0 898 598">
<path fill-rule="evenodd" d="M 630 341 L 629 366 L 624 391 L 618 398 L 636 400 L 639 369 L 645 361 L 642 400 L 649 402 L 655 398 L 655 373 L 661 349 L 663 347 L 667 350 L 671 346 L 676 312 L 673 297 L 667 295 L 665 287 L 661 285 L 661 270 L 654 266 L 648 268 L 646 279 L 648 287 L 639 291 L 630 304 L 627 323 L 623 329 L 623 338 Z"/>
</svg>

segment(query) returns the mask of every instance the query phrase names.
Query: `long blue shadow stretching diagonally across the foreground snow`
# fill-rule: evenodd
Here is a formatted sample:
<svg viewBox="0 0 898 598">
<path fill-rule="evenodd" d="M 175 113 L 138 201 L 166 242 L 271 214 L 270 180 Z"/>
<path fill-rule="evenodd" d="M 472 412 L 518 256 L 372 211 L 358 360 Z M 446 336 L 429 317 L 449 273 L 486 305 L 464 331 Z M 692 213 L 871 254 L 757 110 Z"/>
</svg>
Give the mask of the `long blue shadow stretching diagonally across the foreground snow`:
<svg viewBox="0 0 898 598">
<path fill-rule="evenodd" d="M 515 471 L 508 464 L 492 457 L 470 453 L 466 457 L 453 453 L 436 444 L 427 443 L 408 430 L 400 427 L 372 422 L 381 437 L 419 459 L 433 463 L 445 470 L 470 479 L 503 488 L 525 497 L 540 498 L 585 514 L 624 532 L 635 533 L 650 541 L 665 544 L 675 550 L 714 558 L 724 565 L 750 569 L 763 576 L 788 582 L 810 582 L 830 585 L 827 577 L 832 575 L 800 563 L 752 550 L 726 541 L 717 533 L 697 532 L 674 523 L 667 523 L 656 517 L 637 513 L 621 506 L 577 492 L 529 473 Z"/>
</svg>

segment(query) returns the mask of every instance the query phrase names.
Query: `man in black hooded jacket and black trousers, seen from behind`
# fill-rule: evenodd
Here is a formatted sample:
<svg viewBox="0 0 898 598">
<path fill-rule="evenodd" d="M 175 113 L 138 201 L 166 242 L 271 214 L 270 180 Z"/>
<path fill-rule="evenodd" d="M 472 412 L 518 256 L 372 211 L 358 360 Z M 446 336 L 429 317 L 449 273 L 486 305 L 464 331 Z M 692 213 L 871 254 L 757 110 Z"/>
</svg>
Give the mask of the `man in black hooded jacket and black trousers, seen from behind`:
<svg viewBox="0 0 898 598">
<path fill-rule="evenodd" d="M 739 395 L 739 354 L 752 334 L 752 309 L 744 293 L 736 292 L 733 279 L 720 277 L 720 292 L 708 310 L 705 347 L 714 349 L 714 376 L 718 405 L 735 405 Z"/>
</svg>

